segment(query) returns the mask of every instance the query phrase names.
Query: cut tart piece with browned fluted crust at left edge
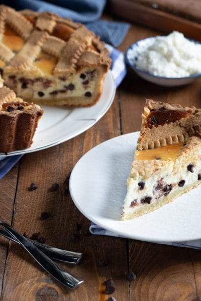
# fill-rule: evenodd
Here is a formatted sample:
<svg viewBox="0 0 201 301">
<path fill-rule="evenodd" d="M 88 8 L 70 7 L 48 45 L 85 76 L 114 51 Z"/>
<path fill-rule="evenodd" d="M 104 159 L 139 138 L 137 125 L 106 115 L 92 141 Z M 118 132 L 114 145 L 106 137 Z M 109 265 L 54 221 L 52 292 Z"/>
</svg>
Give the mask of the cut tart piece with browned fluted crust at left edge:
<svg viewBox="0 0 201 301">
<path fill-rule="evenodd" d="M 16 97 L 14 91 L 0 88 L 0 152 L 13 152 L 31 146 L 43 109 Z"/>
</svg>

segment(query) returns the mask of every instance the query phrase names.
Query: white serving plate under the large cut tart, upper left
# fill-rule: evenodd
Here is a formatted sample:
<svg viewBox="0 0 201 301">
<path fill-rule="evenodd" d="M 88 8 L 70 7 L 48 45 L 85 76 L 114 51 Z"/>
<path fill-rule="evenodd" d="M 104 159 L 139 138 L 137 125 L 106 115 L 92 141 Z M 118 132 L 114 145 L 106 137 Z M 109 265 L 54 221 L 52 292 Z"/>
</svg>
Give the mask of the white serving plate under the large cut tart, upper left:
<svg viewBox="0 0 201 301">
<path fill-rule="evenodd" d="M 106 75 L 103 93 L 98 102 L 91 107 L 65 108 L 42 106 L 44 114 L 39 121 L 30 148 L 0 153 L 0 160 L 7 156 L 23 155 L 45 149 L 67 141 L 95 124 L 110 108 L 115 97 L 115 82 L 112 72 Z"/>
</svg>

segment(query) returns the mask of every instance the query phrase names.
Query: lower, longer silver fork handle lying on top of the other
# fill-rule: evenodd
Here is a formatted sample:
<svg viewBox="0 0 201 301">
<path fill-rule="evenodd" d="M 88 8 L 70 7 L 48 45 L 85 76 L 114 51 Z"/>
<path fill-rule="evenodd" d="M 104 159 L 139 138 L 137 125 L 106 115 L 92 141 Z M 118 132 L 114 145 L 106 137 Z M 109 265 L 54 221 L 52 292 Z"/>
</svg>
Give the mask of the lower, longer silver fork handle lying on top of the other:
<svg viewBox="0 0 201 301">
<path fill-rule="evenodd" d="M 80 283 L 83 282 L 83 280 L 76 278 L 71 273 L 67 272 L 54 261 L 52 261 L 30 240 L 28 240 L 17 230 L 12 228 L 9 224 L 0 221 L 0 226 L 6 229 L 6 231 L 8 231 L 13 236 L 13 238 L 15 238 L 28 251 L 28 253 L 57 281 L 71 289 L 77 287 Z"/>
</svg>

